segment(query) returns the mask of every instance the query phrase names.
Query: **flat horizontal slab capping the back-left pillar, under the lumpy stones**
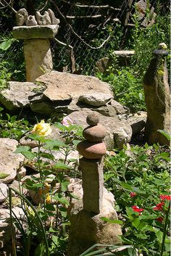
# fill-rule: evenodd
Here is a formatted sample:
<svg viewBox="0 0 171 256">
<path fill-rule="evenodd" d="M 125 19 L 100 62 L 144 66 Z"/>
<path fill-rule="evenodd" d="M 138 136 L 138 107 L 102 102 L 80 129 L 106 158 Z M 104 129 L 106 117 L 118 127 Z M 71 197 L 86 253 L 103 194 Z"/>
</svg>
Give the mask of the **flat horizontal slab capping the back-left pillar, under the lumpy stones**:
<svg viewBox="0 0 171 256">
<path fill-rule="evenodd" d="M 35 26 L 17 26 L 12 30 L 16 39 L 32 38 L 54 38 L 57 35 L 59 25 L 35 25 Z"/>
</svg>

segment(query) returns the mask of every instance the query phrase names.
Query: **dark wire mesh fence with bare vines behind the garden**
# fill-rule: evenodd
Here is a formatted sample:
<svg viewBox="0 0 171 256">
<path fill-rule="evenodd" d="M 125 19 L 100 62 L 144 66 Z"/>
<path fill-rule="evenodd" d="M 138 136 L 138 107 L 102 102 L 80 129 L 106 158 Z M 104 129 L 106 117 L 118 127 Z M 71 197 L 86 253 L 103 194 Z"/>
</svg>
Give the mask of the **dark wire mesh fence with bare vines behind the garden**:
<svg viewBox="0 0 171 256">
<path fill-rule="evenodd" d="M 27 0 L 17 1 L 16 8 L 27 8 L 27 2 Z M 41 9 L 46 1 L 36 2 Z M 91 4 L 84 4 L 88 1 L 79 1 L 82 4 L 66 0 L 54 2 L 57 8 L 49 1 L 50 6 L 47 5 L 45 9 L 50 7 L 59 18 L 60 29 L 56 37 L 66 44 L 63 46 L 51 41 L 54 70 L 93 75 L 97 60 L 109 55 L 111 50 L 120 49 L 121 45 L 123 48 L 127 47 L 123 36 L 127 33 L 127 28 L 133 29 L 131 17 L 135 12 L 135 3 L 138 1 L 114 1 L 110 5 L 99 4 L 98 0 L 91 1 Z M 3 3 L 3 0 L 0 0 L 0 3 Z M 14 4 L 14 1 L 12 3 Z M 167 15 L 169 12 L 170 1 L 166 0 L 162 4 L 162 1 L 151 0 L 150 4 L 154 7 L 154 12 L 158 12 L 159 9 L 161 15 Z M 1 41 L 12 37 L 14 25 L 15 15 L 12 10 L 8 7 L 0 9 Z M 73 51 L 68 45 L 72 46 Z M 73 58 L 75 70 L 71 67 Z M 0 61 L 14 62 L 14 65 L 18 65 L 20 69 L 24 68 L 22 42 L 14 42 L 9 51 L 0 51 Z"/>
</svg>

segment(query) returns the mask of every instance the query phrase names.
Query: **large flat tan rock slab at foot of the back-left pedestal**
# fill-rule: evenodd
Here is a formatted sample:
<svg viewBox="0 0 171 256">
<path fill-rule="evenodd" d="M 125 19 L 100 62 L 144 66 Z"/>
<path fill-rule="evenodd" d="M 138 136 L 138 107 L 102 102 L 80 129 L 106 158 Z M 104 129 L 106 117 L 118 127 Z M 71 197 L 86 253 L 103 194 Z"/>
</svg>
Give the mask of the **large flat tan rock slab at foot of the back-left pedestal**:
<svg viewBox="0 0 171 256">
<path fill-rule="evenodd" d="M 102 92 L 112 97 L 109 84 L 91 76 L 51 71 L 51 73 L 41 75 L 36 80 L 47 86 L 43 94 L 52 102 L 71 100 L 87 93 L 96 94 Z"/>
</svg>

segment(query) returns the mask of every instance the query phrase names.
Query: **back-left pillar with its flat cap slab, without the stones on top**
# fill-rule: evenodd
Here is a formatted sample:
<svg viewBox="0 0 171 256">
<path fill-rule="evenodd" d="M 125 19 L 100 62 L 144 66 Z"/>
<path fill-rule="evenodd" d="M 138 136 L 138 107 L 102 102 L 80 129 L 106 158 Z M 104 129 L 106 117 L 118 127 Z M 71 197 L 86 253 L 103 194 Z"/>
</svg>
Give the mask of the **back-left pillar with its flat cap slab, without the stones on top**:
<svg viewBox="0 0 171 256">
<path fill-rule="evenodd" d="M 24 40 L 26 81 L 36 78 L 53 69 L 50 41 L 58 31 L 59 25 L 17 26 L 13 36 Z"/>
</svg>

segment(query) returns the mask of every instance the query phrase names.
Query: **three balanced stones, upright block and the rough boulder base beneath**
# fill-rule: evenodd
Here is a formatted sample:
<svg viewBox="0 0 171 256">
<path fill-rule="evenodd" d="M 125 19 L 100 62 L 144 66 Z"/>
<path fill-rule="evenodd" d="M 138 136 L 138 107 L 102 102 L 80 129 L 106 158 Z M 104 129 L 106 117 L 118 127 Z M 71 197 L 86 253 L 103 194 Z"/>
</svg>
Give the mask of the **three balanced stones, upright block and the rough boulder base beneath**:
<svg viewBox="0 0 171 256">
<path fill-rule="evenodd" d="M 67 256 L 78 256 L 93 244 L 118 244 L 122 234 L 118 224 L 107 223 L 101 217 L 117 219 L 114 197 L 104 188 L 103 160 L 106 153 L 106 129 L 99 124 L 98 114 L 87 117 L 86 139 L 78 144 L 83 180 L 83 200 L 75 200 L 70 210 L 70 234 Z"/>
</svg>

